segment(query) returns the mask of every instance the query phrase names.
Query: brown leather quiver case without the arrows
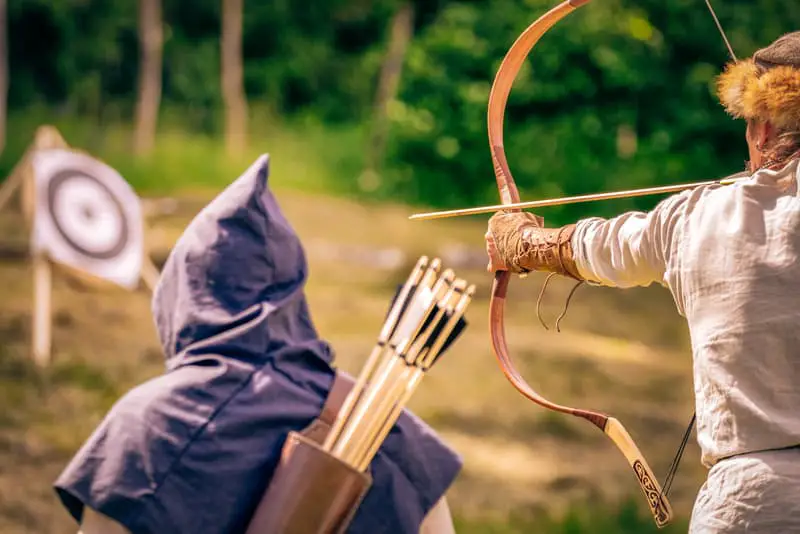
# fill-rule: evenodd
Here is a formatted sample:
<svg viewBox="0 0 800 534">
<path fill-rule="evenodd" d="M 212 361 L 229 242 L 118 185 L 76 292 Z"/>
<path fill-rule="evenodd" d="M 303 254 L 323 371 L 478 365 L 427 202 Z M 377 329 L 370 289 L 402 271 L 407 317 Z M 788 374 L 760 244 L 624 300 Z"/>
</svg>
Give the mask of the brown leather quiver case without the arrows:
<svg viewBox="0 0 800 534">
<path fill-rule="evenodd" d="M 344 534 L 371 485 L 369 474 L 290 432 L 246 534 Z"/>
</svg>

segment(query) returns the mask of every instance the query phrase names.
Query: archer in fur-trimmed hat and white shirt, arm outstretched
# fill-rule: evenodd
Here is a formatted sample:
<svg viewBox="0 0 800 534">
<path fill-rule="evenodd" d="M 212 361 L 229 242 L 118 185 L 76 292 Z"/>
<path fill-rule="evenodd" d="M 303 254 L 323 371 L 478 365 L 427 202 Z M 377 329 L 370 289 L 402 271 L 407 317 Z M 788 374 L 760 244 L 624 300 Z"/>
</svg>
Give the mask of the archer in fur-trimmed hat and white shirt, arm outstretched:
<svg viewBox="0 0 800 534">
<path fill-rule="evenodd" d="M 718 93 L 747 121 L 740 180 L 561 228 L 497 213 L 489 270 L 669 289 L 691 334 L 709 469 L 690 532 L 800 532 L 800 32 L 730 64 Z"/>
</svg>

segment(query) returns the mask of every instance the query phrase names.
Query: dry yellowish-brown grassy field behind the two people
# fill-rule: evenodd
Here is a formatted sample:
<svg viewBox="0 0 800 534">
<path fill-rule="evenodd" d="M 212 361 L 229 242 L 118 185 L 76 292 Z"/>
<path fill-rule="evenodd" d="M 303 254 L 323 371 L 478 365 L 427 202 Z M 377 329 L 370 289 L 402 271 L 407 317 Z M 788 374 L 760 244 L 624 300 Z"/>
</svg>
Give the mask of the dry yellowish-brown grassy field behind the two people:
<svg viewBox="0 0 800 534">
<path fill-rule="evenodd" d="M 163 139 L 168 147 L 170 134 Z M 267 141 L 265 151 L 281 154 L 275 158 L 273 185 L 307 247 L 314 319 L 345 369 L 358 371 L 393 288 L 419 255 L 477 259 L 457 269 L 479 287 L 468 313 L 470 327 L 411 403 L 464 457 L 450 497 L 459 533 L 655 531 L 630 468 L 607 438 L 583 421 L 526 401 L 498 369 L 486 327 L 491 278 L 480 260 L 485 217 L 409 222 L 408 207 L 323 194 L 335 154 L 302 158 L 315 142 L 280 136 L 275 143 L 280 150 L 273 150 Z M 169 168 L 191 172 L 181 166 L 191 167 L 192 154 L 199 158 L 195 150 L 211 150 L 204 142 L 175 141 L 190 148 L 174 151 L 177 163 Z M 166 178 L 142 171 L 146 164 L 135 171 L 123 152 L 109 149 L 103 155 L 126 176 L 125 169 L 130 170 L 140 190 L 179 191 L 178 178 L 171 186 L 159 181 Z M 235 178 L 232 168 L 238 172 L 249 164 L 219 161 L 216 171 L 213 165 L 197 171 L 206 178 L 180 193 L 176 213 L 150 221 L 155 256 L 166 255 L 211 191 Z M 197 160 L 191 165 L 201 168 Z M 24 243 L 18 215 L 0 214 L 0 230 L 4 244 Z M 379 267 L 381 258 L 400 260 Z M 0 306 L 0 532 L 72 533 L 74 525 L 56 504 L 50 483 L 111 404 L 163 369 L 149 294 L 89 290 L 57 276 L 55 359 L 49 369 L 37 370 L 26 358 L 27 264 L 3 259 L 0 281 L 7 288 Z M 619 418 L 663 476 L 693 407 L 687 330 L 668 293 L 583 287 L 556 333 L 536 319 L 542 282 L 543 277 L 531 276 L 512 285 L 507 330 L 517 365 L 546 397 Z M 559 313 L 570 287 L 561 280 L 551 283 L 544 301 L 547 318 Z M 703 475 L 692 441 L 673 487 L 680 516 L 688 516 Z M 685 527 L 679 524 L 662 532 L 680 531 Z"/>
</svg>

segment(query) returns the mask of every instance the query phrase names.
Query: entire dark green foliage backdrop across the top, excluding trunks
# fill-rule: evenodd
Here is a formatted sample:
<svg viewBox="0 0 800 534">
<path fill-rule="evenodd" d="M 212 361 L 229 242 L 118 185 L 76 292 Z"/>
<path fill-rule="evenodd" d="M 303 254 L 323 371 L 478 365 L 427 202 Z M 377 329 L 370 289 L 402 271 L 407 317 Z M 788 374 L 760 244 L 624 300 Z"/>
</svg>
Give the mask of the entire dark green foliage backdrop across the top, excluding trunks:
<svg viewBox="0 0 800 534">
<path fill-rule="evenodd" d="M 344 143 L 353 137 L 336 132 L 342 124 L 369 124 L 388 21 L 400 4 L 246 2 L 251 103 L 267 109 L 265 117 L 333 128 L 331 146 L 349 158 L 354 147 Z M 491 82 L 514 39 L 555 1 L 413 4 L 415 36 L 400 95 L 390 105 L 386 165 L 379 177 L 364 179 L 348 163 L 337 188 L 436 206 L 495 203 L 486 136 Z M 164 0 L 162 115 L 177 117 L 187 135 L 212 139 L 221 127 L 219 5 Z M 725 0 L 715 7 L 740 56 L 800 28 L 796 0 Z M 8 9 L 12 115 L 36 106 L 55 118 L 80 117 L 101 128 L 130 120 L 137 2 L 9 0 Z M 702 0 L 603 0 L 570 15 L 534 49 L 509 99 L 505 145 L 522 196 L 739 171 L 746 156 L 744 126 L 724 114 L 713 87 L 728 60 Z M 552 208 L 545 215 L 561 221 L 609 215 L 656 200 Z"/>
</svg>

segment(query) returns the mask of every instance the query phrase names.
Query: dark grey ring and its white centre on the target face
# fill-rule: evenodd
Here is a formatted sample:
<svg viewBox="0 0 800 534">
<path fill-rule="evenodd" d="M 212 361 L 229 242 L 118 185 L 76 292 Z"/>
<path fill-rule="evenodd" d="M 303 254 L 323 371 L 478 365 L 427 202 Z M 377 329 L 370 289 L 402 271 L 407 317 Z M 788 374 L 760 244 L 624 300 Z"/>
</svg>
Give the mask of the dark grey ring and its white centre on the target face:
<svg viewBox="0 0 800 534">
<path fill-rule="evenodd" d="M 47 186 L 47 208 L 59 235 L 89 258 L 115 258 L 128 244 L 122 205 L 104 183 L 85 172 L 56 172 Z"/>
</svg>

